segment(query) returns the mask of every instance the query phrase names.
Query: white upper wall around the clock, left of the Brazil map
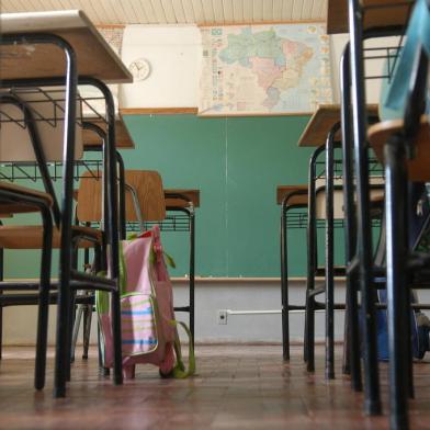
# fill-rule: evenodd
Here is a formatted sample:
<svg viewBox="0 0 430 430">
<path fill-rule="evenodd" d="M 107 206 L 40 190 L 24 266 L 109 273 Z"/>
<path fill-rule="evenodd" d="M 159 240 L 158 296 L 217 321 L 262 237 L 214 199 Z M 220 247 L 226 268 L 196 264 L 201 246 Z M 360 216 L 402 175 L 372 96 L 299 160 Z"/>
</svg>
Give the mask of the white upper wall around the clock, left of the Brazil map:
<svg viewBox="0 0 430 430">
<path fill-rule="evenodd" d="M 195 25 L 128 25 L 122 59 L 151 65 L 149 77 L 122 86 L 122 108 L 193 108 L 197 105 L 200 30 Z"/>
</svg>

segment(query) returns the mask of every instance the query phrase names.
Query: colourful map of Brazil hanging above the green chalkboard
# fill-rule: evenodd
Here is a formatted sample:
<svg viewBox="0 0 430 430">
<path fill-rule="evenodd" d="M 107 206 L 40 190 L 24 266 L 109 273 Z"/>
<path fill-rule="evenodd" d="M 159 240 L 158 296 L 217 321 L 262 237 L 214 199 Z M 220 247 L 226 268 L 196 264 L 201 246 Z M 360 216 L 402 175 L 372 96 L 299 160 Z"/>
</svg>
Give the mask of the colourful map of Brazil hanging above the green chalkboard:
<svg viewBox="0 0 430 430">
<path fill-rule="evenodd" d="M 322 24 L 201 31 L 200 115 L 299 114 L 332 102 Z"/>
</svg>

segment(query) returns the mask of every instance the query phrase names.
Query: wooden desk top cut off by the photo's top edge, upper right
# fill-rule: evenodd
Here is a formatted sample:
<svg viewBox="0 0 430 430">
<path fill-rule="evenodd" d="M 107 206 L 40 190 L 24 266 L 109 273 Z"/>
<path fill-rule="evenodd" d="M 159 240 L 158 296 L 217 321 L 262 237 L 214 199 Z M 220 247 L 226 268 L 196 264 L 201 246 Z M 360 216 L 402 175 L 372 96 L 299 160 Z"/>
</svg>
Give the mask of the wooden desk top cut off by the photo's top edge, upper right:
<svg viewBox="0 0 430 430">
<path fill-rule="evenodd" d="M 364 29 L 404 25 L 415 0 L 362 0 Z M 327 34 L 348 33 L 348 1 L 328 0 Z"/>
</svg>

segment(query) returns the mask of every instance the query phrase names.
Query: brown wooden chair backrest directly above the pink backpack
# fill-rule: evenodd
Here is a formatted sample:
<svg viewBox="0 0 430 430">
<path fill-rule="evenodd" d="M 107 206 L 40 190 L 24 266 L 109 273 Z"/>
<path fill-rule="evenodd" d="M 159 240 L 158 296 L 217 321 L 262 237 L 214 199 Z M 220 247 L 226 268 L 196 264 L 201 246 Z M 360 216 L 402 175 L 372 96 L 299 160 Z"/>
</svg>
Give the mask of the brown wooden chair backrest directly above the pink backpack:
<svg viewBox="0 0 430 430">
<path fill-rule="evenodd" d="M 158 172 L 149 170 L 126 170 L 125 182 L 133 190 L 142 212 L 142 219 L 162 220 L 166 218 L 165 192 Z M 98 172 L 86 172 L 80 180 L 77 216 L 81 223 L 102 219 L 102 179 Z M 125 217 L 127 222 L 137 222 L 133 195 L 125 192 Z"/>
</svg>

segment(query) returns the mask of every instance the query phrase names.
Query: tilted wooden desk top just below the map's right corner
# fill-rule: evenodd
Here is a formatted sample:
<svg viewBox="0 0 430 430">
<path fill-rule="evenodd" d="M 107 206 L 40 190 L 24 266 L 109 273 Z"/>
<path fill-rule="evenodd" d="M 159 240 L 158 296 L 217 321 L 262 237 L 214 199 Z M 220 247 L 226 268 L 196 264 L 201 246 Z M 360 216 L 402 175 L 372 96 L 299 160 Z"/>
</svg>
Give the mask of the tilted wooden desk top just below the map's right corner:
<svg viewBox="0 0 430 430">
<path fill-rule="evenodd" d="M 377 104 L 370 104 L 367 112 L 377 115 Z M 326 143 L 330 128 L 340 121 L 340 104 L 320 104 L 298 139 L 298 146 L 320 146 Z M 340 131 L 336 134 L 340 140 Z"/>
</svg>

